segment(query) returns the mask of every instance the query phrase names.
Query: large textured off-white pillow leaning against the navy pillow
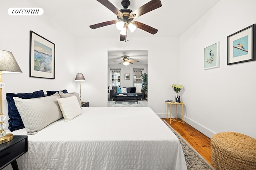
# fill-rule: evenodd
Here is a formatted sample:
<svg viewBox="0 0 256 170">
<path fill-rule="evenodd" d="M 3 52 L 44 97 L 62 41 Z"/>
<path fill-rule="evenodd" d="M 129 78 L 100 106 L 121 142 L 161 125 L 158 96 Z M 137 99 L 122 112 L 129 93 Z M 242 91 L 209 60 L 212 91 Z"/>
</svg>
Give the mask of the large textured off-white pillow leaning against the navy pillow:
<svg viewBox="0 0 256 170">
<path fill-rule="evenodd" d="M 44 127 L 63 117 L 56 99 L 59 97 L 58 92 L 52 96 L 34 99 L 13 97 L 28 135 L 38 133 Z"/>
</svg>

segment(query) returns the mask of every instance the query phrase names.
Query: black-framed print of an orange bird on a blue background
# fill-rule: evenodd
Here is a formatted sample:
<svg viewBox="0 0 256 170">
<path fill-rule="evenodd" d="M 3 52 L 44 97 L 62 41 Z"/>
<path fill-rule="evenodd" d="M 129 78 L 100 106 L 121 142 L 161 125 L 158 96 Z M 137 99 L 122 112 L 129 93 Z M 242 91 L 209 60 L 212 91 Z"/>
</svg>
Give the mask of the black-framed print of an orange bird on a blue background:
<svg viewBox="0 0 256 170">
<path fill-rule="evenodd" d="M 227 37 L 227 65 L 255 61 L 255 23 Z"/>
</svg>

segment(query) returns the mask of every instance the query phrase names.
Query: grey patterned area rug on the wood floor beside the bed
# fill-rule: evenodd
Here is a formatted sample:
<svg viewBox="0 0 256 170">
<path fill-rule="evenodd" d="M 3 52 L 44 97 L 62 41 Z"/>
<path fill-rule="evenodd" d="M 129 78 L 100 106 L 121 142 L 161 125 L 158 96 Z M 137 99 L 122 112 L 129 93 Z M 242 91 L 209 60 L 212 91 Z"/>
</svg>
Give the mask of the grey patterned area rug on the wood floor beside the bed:
<svg viewBox="0 0 256 170">
<path fill-rule="evenodd" d="M 194 150 L 165 120 L 164 123 L 180 140 L 188 170 L 215 170 L 196 150 Z"/>
</svg>

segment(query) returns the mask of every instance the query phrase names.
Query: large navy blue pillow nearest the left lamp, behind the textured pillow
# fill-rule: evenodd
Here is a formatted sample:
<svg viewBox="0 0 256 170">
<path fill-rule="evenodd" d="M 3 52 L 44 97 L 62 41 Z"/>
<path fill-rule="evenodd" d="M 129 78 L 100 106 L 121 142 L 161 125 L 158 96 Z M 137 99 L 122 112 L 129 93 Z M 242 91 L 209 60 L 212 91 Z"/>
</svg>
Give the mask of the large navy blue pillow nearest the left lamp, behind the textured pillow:
<svg viewBox="0 0 256 170">
<path fill-rule="evenodd" d="M 44 97 L 44 91 L 40 90 L 33 93 L 18 93 L 18 94 L 6 93 L 6 100 L 8 104 L 8 115 L 10 118 L 8 129 L 10 129 L 11 132 L 18 129 L 25 128 L 22 122 L 22 119 L 20 117 L 20 113 L 18 112 L 18 109 L 15 106 L 13 97 L 18 97 L 22 99 L 40 98 L 40 97 Z"/>
</svg>

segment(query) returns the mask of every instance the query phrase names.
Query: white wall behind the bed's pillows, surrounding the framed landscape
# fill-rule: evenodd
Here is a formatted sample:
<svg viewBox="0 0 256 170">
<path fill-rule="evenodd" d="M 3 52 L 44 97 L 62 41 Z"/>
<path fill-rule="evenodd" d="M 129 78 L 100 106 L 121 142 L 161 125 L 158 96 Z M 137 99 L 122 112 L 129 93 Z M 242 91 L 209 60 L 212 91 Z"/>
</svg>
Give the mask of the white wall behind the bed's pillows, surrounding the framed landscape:
<svg viewBox="0 0 256 170">
<path fill-rule="evenodd" d="M 15 5 L 14 5 L 15 4 Z M 64 90 L 79 92 L 75 82 L 78 71 L 75 64 L 75 39 L 58 25 L 47 12 L 42 16 L 9 16 L 11 7 L 35 7 L 30 0 L 5 1 L 0 5 L 0 49 L 11 51 L 22 74 L 5 74 L 3 82 L 3 112 L 8 115 L 6 93 L 26 93 L 38 90 Z M 29 77 L 30 30 L 55 43 L 55 79 Z M 8 123 L 8 121 L 5 121 Z"/>
</svg>

